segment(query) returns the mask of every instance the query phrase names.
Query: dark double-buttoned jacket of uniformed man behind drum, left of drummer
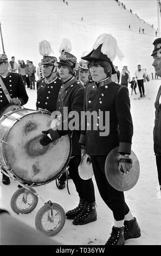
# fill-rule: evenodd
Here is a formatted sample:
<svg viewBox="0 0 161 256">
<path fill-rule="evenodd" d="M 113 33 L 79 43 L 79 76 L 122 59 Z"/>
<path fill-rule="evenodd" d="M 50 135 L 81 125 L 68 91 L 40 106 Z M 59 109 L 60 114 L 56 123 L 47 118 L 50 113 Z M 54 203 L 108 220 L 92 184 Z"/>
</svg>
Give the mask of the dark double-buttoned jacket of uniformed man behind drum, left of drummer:
<svg viewBox="0 0 161 256">
<path fill-rule="evenodd" d="M 50 112 L 56 111 L 57 96 L 62 85 L 61 78 L 55 76 L 51 82 L 42 78 L 37 81 L 36 109 L 43 108 Z"/>
</svg>

